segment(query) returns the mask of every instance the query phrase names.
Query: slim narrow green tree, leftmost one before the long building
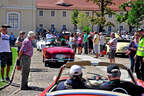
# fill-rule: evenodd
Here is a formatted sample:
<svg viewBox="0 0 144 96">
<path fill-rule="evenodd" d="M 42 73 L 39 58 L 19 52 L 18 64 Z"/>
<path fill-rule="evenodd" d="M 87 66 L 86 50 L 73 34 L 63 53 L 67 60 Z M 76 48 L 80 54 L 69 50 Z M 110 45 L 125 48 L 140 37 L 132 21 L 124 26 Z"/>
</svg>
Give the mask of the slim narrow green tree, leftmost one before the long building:
<svg viewBox="0 0 144 96">
<path fill-rule="evenodd" d="M 75 31 L 77 30 L 78 14 L 79 14 L 79 12 L 78 12 L 77 9 L 75 9 L 75 10 L 73 11 L 73 14 L 72 14 L 72 24 L 74 24 L 74 30 L 75 30 Z"/>
</svg>

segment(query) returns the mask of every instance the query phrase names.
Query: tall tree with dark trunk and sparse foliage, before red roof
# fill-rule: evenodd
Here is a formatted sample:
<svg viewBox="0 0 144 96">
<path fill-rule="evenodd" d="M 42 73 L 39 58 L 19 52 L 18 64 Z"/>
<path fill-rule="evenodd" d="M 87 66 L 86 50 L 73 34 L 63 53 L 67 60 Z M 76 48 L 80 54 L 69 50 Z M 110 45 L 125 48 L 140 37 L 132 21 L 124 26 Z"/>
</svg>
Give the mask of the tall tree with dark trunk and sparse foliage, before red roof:
<svg viewBox="0 0 144 96">
<path fill-rule="evenodd" d="M 103 31 L 104 26 L 114 26 L 112 22 L 107 22 L 105 19 L 105 15 L 112 15 L 114 12 L 111 11 L 109 6 L 111 6 L 113 3 L 111 0 L 87 0 L 92 1 L 94 4 L 99 6 L 100 11 L 95 12 L 96 16 L 90 17 L 91 24 L 99 26 L 99 32 Z"/>
</svg>

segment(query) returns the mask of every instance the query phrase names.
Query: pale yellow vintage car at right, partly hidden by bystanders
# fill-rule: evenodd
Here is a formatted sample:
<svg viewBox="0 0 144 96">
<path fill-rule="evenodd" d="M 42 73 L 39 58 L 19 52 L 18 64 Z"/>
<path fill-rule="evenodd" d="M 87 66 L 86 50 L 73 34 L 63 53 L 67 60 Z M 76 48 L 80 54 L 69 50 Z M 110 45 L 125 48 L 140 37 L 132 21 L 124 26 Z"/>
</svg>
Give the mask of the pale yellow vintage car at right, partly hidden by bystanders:
<svg viewBox="0 0 144 96">
<path fill-rule="evenodd" d="M 117 49 L 116 49 L 116 55 L 117 54 L 126 54 L 126 50 L 128 49 L 130 40 L 118 40 L 117 41 Z M 109 52 L 109 46 L 106 45 L 107 47 L 107 53 Z"/>
</svg>

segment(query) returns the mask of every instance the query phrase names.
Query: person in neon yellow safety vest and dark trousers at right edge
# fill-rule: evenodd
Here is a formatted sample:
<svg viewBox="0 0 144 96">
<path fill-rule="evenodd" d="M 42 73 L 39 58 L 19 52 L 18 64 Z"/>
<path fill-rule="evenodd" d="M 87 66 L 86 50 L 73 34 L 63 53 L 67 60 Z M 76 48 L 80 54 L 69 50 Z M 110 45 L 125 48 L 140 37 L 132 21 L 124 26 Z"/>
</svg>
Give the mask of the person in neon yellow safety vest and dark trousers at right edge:
<svg viewBox="0 0 144 96">
<path fill-rule="evenodd" d="M 137 78 L 144 81 L 144 29 L 138 29 L 137 32 L 140 34 L 141 39 L 138 43 L 138 48 L 136 51 L 135 72 Z"/>
</svg>

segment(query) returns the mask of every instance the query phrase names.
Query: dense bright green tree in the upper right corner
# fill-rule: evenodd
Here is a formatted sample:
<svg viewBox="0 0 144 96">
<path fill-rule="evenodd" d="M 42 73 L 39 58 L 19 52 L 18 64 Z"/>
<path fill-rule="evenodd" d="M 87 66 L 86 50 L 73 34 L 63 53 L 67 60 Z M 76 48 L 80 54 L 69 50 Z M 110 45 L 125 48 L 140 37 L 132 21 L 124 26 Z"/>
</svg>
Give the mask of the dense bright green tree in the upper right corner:
<svg viewBox="0 0 144 96">
<path fill-rule="evenodd" d="M 144 20 L 144 2 L 143 0 L 129 1 L 119 6 L 125 13 L 116 15 L 118 22 L 125 22 L 129 25 L 129 32 L 132 28 L 138 28 Z"/>
</svg>

